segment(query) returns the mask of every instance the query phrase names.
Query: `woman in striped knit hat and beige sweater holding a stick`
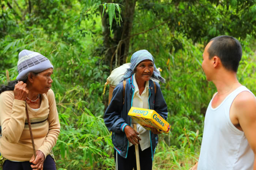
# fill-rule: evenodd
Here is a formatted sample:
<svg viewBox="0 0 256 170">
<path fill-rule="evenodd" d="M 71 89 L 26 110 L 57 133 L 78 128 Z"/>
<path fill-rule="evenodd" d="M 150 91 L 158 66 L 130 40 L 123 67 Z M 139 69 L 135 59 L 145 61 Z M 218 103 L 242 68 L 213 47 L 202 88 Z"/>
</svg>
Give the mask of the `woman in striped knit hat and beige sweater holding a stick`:
<svg viewBox="0 0 256 170">
<path fill-rule="evenodd" d="M 19 53 L 17 68 L 16 80 L 0 88 L 3 170 L 56 170 L 51 150 L 60 133 L 60 123 L 51 90 L 53 65 L 40 53 L 23 50 Z M 36 158 L 33 156 L 26 107 Z"/>
</svg>

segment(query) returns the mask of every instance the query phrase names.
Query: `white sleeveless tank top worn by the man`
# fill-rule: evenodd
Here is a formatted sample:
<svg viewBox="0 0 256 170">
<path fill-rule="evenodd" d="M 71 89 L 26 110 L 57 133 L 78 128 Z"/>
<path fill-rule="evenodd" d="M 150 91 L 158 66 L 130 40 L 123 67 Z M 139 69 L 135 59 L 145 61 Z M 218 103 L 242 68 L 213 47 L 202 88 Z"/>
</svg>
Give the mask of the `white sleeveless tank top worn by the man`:
<svg viewBox="0 0 256 170">
<path fill-rule="evenodd" d="M 240 86 L 216 108 L 212 108 L 211 100 L 205 114 L 198 170 L 253 169 L 253 150 L 244 132 L 238 130 L 229 117 L 231 104 L 242 91 L 251 92 L 246 87 Z"/>
</svg>

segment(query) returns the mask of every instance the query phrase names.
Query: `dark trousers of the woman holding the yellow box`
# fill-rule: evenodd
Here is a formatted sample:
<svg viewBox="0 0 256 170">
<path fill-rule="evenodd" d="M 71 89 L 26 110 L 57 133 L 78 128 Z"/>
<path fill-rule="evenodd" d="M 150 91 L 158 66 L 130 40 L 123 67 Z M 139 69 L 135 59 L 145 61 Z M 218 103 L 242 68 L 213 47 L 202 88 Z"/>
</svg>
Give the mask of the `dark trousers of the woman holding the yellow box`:
<svg viewBox="0 0 256 170">
<path fill-rule="evenodd" d="M 129 147 L 127 158 L 123 158 L 122 156 L 120 156 L 116 152 L 116 150 L 114 152 L 114 155 L 115 155 L 116 170 L 132 170 L 133 168 L 134 170 L 137 170 L 134 145 Z M 139 145 L 139 155 L 140 155 L 140 169 L 152 170 L 151 147 L 142 151 Z"/>
</svg>

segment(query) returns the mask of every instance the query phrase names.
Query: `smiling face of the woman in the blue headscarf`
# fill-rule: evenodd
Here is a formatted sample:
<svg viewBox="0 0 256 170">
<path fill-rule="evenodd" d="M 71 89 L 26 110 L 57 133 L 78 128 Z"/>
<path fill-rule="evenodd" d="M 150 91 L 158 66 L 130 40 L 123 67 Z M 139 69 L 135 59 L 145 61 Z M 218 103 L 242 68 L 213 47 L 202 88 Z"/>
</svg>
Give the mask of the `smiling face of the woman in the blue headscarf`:
<svg viewBox="0 0 256 170">
<path fill-rule="evenodd" d="M 136 77 L 143 80 L 149 81 L 154 72 L 154 63 L 151 60 L 143 60 L 136 67 Z"/>
</svg>

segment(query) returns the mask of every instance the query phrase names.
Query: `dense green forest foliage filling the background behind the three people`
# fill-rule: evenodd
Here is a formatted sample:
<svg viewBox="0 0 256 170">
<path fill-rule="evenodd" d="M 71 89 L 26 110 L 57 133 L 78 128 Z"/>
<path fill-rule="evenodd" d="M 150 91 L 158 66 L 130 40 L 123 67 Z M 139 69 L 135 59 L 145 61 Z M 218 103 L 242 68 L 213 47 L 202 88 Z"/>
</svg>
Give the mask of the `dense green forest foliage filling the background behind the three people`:
<svg viewBox="0 0 256 170">
<path fill-rule="evenodd" d="M 209 39 L 227 34 L 241 41 L 238 79 L 256 93 L 254 0 L 138 0 L 133 18 L 126 16 L 125 7 L 133 2 L 127 0 L 30 0 L 31 5 L 9 0 L 12 8 L 8 1 L 0 2 L 0 84 L 6 84 L 5 70 L 15 80 L 23 49 L 47 56 L 54 65 L 52 88 L 61 122 L 53 148 L 58 170 L 114 169 L 111 134 L 102 119 L 108 87 L 102 93 L 115 66 L 118 37 L 130 36 L 127 58 L 122 60 L 129 62 L 132 53 L 147 49 L 167 81 L 160 85 L 171 131 L 159 135 L 153 169 L 189 169 L 198 160 L 204 114 L 216 92 L 201 68 Z M 128 21 L 132 25 L 126 34 Z M 105 35 L 104 29 L 111 31 Z M 106 48 L 105 41 L 113 46 Z M 118 53 L 127 45 L 122 42 Z M 106 57 L 109 52 L 112 63 Z"/>
</svg>

